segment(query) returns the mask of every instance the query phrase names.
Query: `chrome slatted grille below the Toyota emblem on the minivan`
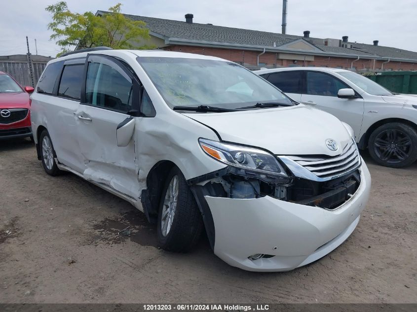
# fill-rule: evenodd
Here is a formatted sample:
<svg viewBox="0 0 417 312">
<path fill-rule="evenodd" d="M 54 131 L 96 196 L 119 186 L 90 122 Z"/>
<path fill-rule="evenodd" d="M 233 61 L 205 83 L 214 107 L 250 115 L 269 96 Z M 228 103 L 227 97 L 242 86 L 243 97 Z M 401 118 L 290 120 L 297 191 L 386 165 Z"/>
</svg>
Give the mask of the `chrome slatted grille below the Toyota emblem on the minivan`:
<svg viewBox="0 0 417 312">
<path fill-rule="evenodd" d="M 356 144 L 347 144 L 340 155 L 331 157 L 287 156 L 320 178 L 347 173 L 360 165 Z"/>
</svg>

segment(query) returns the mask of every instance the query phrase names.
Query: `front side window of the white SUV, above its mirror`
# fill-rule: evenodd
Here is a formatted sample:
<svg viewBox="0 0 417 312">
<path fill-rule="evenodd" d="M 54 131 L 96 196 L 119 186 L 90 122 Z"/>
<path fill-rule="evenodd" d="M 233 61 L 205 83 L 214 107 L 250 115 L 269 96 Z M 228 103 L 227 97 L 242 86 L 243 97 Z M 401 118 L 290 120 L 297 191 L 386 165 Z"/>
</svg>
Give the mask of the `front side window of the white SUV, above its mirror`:
<svg viewBox="0 0 417 312">
<path fill-rule="evenodd" d="M 340 89 L 349 88 L 339 79 L 317 71 L 307 71 L 307 94 L 337 97 Z"/>
</svg>

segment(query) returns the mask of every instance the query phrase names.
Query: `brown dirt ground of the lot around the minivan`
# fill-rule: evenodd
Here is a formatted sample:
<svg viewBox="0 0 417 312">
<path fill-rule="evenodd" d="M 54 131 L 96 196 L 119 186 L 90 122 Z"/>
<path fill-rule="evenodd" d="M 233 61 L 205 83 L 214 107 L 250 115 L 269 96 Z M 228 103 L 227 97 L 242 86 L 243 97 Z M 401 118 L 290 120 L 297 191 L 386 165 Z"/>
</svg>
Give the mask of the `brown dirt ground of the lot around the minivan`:
<svg viewBox="0 0 417 312">
<path fill-rule="evenodd" d="M 371 198 L 349 239 L 261 274 L 230 267 L 204 237 L 188 254 L 158 249 L 139 210 L 74 174 L 48 176 L 29 140 L 0 141 L 0 302 L 417 303 L 417 163 L 363 156 Z"/>
</svg>

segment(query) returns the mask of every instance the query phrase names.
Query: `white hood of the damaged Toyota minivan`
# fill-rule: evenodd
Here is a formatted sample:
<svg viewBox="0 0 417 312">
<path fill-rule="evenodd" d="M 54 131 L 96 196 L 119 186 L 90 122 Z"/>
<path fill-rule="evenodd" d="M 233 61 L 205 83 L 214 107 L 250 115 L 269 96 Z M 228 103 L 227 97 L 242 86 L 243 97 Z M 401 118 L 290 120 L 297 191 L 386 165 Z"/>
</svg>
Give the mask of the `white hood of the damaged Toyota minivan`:
<svg viewBox="0 0 417 312">
<path fill-rule="evenodd" d="M 213 128 L 224 141 L 261 147 L 276 155 L 336 156 L 351 142 L 349 132 L 339 119 L 303 104 L 185 115 Z M 327 139 L 334 139 L 338 150 L 331 151 Z"/>
</svg>

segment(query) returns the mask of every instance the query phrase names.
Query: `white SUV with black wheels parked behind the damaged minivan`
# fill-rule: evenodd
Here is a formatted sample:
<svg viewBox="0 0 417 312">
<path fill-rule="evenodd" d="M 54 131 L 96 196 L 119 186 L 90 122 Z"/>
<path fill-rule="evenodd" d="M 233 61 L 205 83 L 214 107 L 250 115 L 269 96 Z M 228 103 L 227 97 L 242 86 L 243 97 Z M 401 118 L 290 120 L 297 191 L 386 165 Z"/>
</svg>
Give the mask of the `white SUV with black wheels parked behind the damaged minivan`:
<svg viewBox="0 0 417 312">
<path fill-rule="evenodd" d="M 417 98 L 395 94 L 344 69 L 283 68 L 255 71 L 290 98 L 323 109 L 349 124 L 359 148 L 382 166 L 417 160 Z"/>
</svg>

